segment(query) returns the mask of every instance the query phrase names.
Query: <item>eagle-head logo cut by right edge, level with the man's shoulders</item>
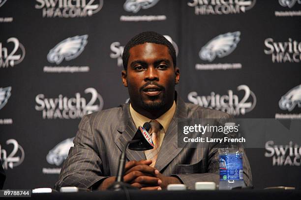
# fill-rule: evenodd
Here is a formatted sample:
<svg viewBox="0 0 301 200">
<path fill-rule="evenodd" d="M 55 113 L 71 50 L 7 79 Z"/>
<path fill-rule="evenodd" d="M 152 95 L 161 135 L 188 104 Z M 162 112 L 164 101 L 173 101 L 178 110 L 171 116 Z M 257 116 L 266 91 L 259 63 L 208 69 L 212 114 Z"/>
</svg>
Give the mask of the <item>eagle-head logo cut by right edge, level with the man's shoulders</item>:
<svg viewBox="0 0 301 200">
<path fill-rule="evenodd" d="M 296 105 L 301 108 L 301 85 L 288 91 L 279 101 L 279 107 L 282 110 L 292 111 Z"/>
</svg>

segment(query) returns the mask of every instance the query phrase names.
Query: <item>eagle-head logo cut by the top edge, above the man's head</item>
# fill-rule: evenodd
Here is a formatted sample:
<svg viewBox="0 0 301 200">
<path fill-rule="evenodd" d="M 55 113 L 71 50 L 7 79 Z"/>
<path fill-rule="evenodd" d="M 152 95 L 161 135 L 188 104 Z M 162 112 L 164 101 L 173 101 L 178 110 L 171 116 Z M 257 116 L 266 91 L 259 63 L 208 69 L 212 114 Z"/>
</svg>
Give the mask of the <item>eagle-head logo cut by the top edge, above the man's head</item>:
<svg viewBox="0 0 301 200">
<path fill-rule="evenodd" d="M 126 0 L 123 8 L 127 12 L 137 13 L 141 8 L 148 9 L 154 6 L 159 0 Z"/>
</svg>

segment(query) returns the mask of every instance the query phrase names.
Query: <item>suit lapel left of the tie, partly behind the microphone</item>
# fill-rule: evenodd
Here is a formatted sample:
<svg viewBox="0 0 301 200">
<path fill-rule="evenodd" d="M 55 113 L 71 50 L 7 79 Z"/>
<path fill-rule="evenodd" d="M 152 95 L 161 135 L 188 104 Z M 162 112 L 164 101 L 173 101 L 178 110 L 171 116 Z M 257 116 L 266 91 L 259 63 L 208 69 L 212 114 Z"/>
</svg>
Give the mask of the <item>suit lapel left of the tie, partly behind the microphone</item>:
<svg viewBox="0 0 301 200">
<path fill-rule="evenodd" d="M 122 152 L 126 143 L 130 141 L 135 133 L 136 133 L 136 127 L 134 125 L 134 122 L 130 116 L 129 113 L 129 104 L 123 104 L 122 105 L 122 117 L 120 117 L 120 124 L 117 128 L 117 133 L 119 136 L 116 137 L 115 143 Z M 144 151 L 133 151 L 130 149 L 126 149 L 126 157 L 128 160 L 142 160 L 146 159 Z"/>
</svg>

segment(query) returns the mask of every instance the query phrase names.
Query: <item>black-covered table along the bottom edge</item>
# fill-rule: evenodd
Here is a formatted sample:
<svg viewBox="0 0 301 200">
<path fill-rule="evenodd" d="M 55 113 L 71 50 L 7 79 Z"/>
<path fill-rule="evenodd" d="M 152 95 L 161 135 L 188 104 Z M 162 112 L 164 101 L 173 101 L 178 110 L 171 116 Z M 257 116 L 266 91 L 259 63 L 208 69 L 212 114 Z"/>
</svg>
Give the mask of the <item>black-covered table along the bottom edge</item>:
<svg viewBox="0 0 301 200">
<path fill-rule="evenodd" d="M 128 198 L 126 198 L 128 197 Z M 7 198 L 8 199 L 8 198 Z M 232 191 L 93 191 L 79 193 L 31 194 L 37 200 L 301 200 L 301 190 Z M 9 198 L 11 200 L 11 198 Z"/>
</svg>

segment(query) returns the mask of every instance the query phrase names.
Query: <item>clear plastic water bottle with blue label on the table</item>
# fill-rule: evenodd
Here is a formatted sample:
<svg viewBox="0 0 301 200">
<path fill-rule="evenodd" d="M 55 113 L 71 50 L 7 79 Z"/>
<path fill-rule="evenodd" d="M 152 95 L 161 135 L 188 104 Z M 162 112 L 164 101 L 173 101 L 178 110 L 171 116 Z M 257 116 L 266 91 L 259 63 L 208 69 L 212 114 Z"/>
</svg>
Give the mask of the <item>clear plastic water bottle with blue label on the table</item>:
<svg viewBox="0 0 301 200">
<path fill-rule="evenodd" d="M 234 127 L 235 123 L 225 123 L 225 126 Z M 230 135 L 227 137 L 230 138 Z M 239 145 L 235 143 L 226 143 L 224 148 L 219 149 L 219 190 L 245 187 L 242 156 L 243 152 L 239 150 Z"/>
</svg>

